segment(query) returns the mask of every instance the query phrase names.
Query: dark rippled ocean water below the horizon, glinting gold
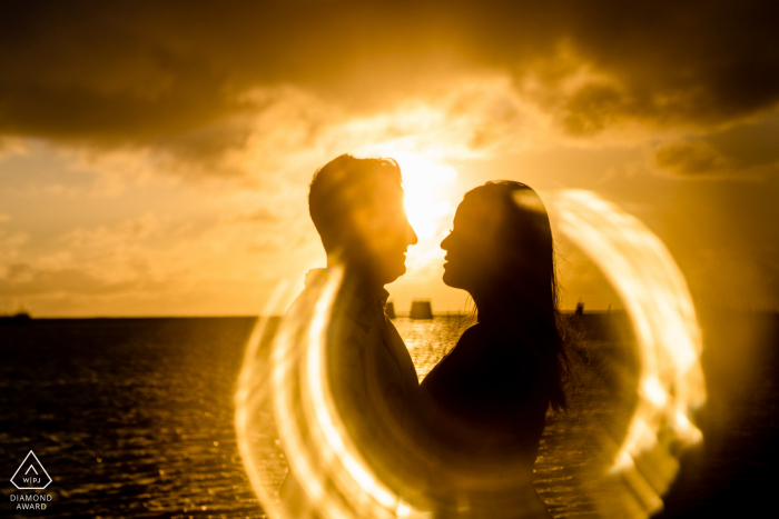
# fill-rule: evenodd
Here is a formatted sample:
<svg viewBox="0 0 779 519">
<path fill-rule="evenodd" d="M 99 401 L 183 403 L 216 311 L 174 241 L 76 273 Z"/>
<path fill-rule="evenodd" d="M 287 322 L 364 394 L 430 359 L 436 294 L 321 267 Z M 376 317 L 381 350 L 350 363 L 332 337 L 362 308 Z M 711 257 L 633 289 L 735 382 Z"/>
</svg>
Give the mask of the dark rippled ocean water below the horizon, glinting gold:
<svg viewBox="0 0 779 519">
<path fill-rule="evenodd" d="M 779 326 L 776 315 L 750 316 L 710 319 L 720 325 L 712 325 L 703 357 L 709 402 L 698 425 L 704 441 L 677 453 L 681 468 L 662 517 L 741 515 L 777 480 Z M 1 322 L 0 477 L 7 483 L 0 485 L 0 515 L 264 517 L 233 427 L 235 383 L 254 322 Z M 463 330 L 455 317 L 394 322 L 421 376 Z M 624 489 L 594 482 L 602 482 L 635 407 L 638 356 L 623 313 L 585 315 L 579 328 L 571 410 L 548 415 L 534 485 L 555 518 L 615 517 Z M 11 501 L 36 492 L 10 482 L 30 450 L 52 479 L 40 491 L 51 501 L 34 512 Z"/>
</svg>

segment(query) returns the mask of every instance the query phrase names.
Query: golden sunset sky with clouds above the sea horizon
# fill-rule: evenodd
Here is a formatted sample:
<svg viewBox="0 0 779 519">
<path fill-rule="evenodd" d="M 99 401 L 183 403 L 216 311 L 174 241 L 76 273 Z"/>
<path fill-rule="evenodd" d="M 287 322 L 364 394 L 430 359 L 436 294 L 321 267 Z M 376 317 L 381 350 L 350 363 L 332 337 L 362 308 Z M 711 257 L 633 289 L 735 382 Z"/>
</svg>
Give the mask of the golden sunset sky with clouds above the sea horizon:
<svg viewBox="0 0 779 519">
<path fill-rule="evenodd" d="M 495 179 L 591 190 L 697 302 L 777 309 L 775 20 L 743 0 L 2 2 L 0 313 L 258 315 L 324 266 L 308 182 L 345 152 L 401 164 L 420 243 L 398 311 L 467 308 L 438 243 Z M 620 308 L 555 240 L 563 308 Z"/>
</svg>

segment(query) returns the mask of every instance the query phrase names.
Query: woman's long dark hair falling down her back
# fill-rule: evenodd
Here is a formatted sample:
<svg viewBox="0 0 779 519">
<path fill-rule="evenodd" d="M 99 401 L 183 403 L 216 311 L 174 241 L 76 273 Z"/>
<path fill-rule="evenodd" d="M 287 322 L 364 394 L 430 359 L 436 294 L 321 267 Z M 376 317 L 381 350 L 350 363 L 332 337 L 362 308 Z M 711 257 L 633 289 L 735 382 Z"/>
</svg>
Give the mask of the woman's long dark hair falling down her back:
<svg viewBox="0 0 779 519">
<path fill-rule="evenodd" d="M 463 198 L 483 226 L 487 246 L 483 281 L 472 291 L 479 320 L 499 319 L 534 346 L 546 372 L 550 403 L 566 410 L 568 321 L 560 315 L 554 242 L 541 198 L 521 182 L 480 186 Z"/>
</svg>

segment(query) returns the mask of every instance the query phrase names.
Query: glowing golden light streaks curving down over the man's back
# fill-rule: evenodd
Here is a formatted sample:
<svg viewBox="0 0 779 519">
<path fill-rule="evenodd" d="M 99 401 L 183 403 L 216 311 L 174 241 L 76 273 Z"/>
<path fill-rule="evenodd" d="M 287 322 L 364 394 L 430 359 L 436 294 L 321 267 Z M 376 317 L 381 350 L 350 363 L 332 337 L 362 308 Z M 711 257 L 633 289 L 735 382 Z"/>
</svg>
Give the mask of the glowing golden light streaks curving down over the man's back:
<svg viewBox="0 0 779 519">
<path fill-rule="evenodd" d="M 259 351 L 262 332 L 253 333 L 236 393 L 236 430 L 250 482 L 266 512 L 273 517 L 309 516 L 327 518 L 420 517 L 403 505 L 368 469 L 352 442 L 332 399 L 324 361 L 325 337 L 341 271 L 331 269 L 319 287 L 305 291 L 293 305 L 272 342 L 269 356 Z M 257 327 L 263 327 L 259 321 Z M 256 377 L 270 377 L 270 392 L 252 398 L 248 387 Z M 270 403 L 268 406 L 268 402 Z M 263 408 L 270 423 L 253 423 Z M 266 409 L 267 411 L 267 409 Z M 268 438 L 257 441 L 257 428 L 278 435 L 295 485 L 302 493 L 303 511 L 290 511 L 268 488 L 267 477 L 256 467 L 273 456 Z M 262 438 L 259 438 L 262 440 Z M 297 503 L 299 505 L 299 503 Z"/>
</svg>

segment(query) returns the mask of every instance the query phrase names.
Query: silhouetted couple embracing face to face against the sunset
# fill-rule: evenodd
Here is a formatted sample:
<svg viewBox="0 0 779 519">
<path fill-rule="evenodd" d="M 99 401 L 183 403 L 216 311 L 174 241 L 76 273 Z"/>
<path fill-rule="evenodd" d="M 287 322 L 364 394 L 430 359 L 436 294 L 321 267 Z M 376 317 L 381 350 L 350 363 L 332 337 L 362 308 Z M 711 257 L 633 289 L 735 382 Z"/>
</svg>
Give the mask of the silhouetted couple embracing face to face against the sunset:
<svg viewBox="0 0 779 519">
<path fill-rule="evenodd" d="M 538 194 L 514 181 L 465 194 L 441 243 L 443 281 L 471 295 L 477 322 L 421 383 L 384 313 L 384 286 L 417 241 L 400 167 L 341 156 L 315 173 L 308 203 L 328 269 L 343 269 L 326 343 L 333 401 L 373 473 L 433 517 L 551 517 L 531 483 L 546 410 L 566 407 L 568 360 Z M 306 290 L 328 269 L 309 271 Z M 302 510 L 294 479 L 280 497 Z"/>
</svg>

